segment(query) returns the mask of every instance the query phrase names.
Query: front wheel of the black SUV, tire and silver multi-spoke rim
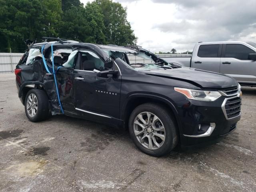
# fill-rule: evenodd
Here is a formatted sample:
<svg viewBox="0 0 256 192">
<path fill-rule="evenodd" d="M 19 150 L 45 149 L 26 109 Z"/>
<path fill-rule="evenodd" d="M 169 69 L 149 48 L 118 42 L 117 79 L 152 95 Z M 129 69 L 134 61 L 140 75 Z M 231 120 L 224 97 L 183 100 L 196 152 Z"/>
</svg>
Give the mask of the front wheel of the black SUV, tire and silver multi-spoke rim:
<svg viewBox="0 0 256 192">
<path fill-rule="evenodd" d="M 135 145 L 151 156 L 168 154 L 178 143 L 177 126 L 172 115 L 164 106 L 154 103 L 142 104 L 132 111 L 129 132 Z"/>
</svg>

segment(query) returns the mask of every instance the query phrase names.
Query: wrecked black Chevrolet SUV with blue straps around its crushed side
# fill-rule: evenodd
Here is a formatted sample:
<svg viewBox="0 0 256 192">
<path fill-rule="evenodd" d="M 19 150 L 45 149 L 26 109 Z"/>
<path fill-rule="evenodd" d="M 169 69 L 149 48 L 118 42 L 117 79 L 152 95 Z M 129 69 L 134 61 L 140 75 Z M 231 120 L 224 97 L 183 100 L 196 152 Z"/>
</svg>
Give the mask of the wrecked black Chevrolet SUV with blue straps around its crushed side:
<svg viewBox="0 0 256 192">
<path fill-rule="evenodd" d="M 15 74 L 30 121 L 51 112 L 128 128 L 136 146 L 152 156 L 178 143 L 216 142 L 241 116 L 236 80 L 168 63 L 140 46 L 31 44 Z"/>
</svg>

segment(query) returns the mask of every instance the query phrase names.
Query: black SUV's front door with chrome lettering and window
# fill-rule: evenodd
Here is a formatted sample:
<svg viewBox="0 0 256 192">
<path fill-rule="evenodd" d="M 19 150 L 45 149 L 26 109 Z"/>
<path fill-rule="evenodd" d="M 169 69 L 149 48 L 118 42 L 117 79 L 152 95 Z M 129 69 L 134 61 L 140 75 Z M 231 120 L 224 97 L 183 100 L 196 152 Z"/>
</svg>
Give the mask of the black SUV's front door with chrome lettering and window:
<svg viewBox="0 0 256 192">
<path fill-rule="evenodd" d="M 73 72 L 75 108 L 84 118 L 108 122 L 119 118 L 121 76 L 98 77 L 97 70 L 102 70 L 104 65 L 95 52 L 78 53 Z"/>
</svg>

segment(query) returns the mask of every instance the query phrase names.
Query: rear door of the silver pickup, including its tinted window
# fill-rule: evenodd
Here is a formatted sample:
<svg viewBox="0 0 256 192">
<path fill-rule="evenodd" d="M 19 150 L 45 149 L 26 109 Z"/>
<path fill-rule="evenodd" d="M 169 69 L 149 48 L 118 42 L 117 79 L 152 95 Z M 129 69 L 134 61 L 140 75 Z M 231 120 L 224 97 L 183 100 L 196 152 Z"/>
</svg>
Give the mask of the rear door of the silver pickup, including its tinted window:
<svg viewBox="0 0 256 192">
<path fill-rule="evenodd" d="M 192 67 L 207 71 L 220 72 L 222 44 L 198 44 Z"/>
</svg>

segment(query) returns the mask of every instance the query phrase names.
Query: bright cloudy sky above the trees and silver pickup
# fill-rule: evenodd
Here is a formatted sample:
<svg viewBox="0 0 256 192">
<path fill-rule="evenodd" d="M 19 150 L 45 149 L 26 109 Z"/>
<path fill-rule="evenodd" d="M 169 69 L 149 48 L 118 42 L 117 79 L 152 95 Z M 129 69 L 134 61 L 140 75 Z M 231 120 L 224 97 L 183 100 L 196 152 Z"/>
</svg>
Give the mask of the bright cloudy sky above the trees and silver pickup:
<svg viewBox="0 0 256 192">
<path fill-rule="evenodd" d="M 137 44 L 151 52 L 192 51 L 197 42 L 256 42 L 256 0 L 113 1 L 127 7 Z"/>
</svg>

